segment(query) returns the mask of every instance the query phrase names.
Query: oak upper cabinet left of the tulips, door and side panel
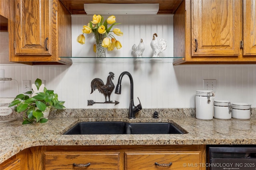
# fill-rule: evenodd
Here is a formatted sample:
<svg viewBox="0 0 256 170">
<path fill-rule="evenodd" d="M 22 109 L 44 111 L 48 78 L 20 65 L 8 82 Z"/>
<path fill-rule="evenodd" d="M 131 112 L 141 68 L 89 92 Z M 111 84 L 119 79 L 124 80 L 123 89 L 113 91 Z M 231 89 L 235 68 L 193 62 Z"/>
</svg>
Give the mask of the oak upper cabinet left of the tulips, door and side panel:
<svg viewBox="0 0 256 170">
<path fill-rule="evenodd" d="M 72 64 L 71 15 L 58 0 L 15 0 L 14 55 L 26 64 Z"/>
</svg>

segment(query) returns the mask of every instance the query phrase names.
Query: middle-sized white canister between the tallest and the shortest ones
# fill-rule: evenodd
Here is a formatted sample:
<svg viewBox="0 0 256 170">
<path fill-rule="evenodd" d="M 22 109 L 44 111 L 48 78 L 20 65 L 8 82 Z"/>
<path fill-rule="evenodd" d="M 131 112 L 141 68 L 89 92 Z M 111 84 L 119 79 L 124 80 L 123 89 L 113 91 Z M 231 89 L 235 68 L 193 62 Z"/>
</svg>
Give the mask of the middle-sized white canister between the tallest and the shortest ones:
<svg viewBox="0 0 256 170">
<path fill-rule="evenodd" d="M 214 100 L 214 118 L 216 119 L 231 119 L 231 103 L 226 100 Z"/>
</svg>

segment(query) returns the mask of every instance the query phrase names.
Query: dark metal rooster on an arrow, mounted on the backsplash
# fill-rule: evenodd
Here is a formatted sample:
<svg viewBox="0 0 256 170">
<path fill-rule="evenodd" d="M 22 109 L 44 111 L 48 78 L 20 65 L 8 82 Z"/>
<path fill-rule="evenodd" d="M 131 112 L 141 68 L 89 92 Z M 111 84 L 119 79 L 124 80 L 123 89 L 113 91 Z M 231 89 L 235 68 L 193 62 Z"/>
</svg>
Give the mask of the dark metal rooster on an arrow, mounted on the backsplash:
<svg viewBox="0 0 256 170">
<path fill-rule="evenodd" d="M 105 102 L 94 102 L 93 100 L 88 100 L 88 106 L 91 106 L 93 104 L 96 103 L 101 103 L 101 104 L 112 104 L 114 103 L 119 104 L 118 101 L 112 102 L 110 100 L 110 95 L 113 92 L 115 85 L 112 82 L 112 79 L 114 79 L 114 73 L 113 72 L 109 72 L 109 76 L 107 78 L 107 82 L 106 84 L 104 84 L 104 82 L 100 79 L 100 78 L 94 78 L 91 82 L 91 93 L 92 94 L 96 89 L 99 90 L 100 93 L 104 94 L 105 96 Z M 108 97 L 108 101 L 107 101 L 107 97 Z"/>
</svg>

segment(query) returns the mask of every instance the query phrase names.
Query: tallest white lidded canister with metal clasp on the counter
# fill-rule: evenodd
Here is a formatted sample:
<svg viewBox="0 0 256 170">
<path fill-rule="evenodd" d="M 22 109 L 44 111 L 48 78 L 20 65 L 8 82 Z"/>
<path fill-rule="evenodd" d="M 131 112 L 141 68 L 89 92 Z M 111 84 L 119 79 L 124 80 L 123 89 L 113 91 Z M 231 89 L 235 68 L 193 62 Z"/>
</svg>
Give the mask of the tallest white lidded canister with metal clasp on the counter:
<svg viewBox="0 0 256 170">
<path fill-rule="evenodd" d="M 211 90 L 196 91 L 196 119 L 213 119 L 214 92 Z"/>
</svg>

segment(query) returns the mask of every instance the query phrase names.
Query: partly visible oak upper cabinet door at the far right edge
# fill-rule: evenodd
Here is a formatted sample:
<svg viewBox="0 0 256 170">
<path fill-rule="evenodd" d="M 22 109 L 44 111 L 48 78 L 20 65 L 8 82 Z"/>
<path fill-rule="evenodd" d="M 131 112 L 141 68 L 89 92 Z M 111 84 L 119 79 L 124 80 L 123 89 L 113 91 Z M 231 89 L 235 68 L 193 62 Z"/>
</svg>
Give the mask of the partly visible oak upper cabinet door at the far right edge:
<svg viewBox="0 0 256 170">
<path fill-rule="evenodd" d="M 244 0 L 243 55 L 256 55 L 256 0 Z"/>
</svg>

